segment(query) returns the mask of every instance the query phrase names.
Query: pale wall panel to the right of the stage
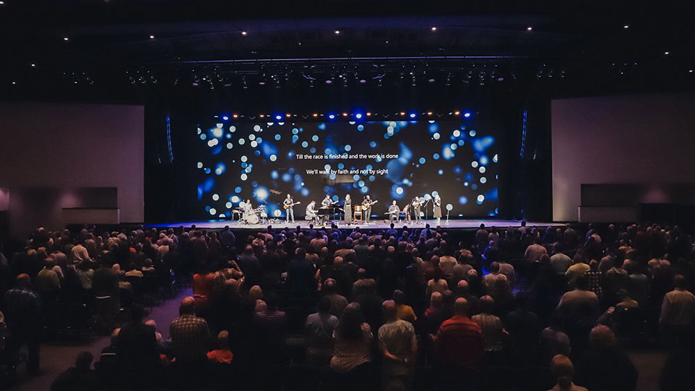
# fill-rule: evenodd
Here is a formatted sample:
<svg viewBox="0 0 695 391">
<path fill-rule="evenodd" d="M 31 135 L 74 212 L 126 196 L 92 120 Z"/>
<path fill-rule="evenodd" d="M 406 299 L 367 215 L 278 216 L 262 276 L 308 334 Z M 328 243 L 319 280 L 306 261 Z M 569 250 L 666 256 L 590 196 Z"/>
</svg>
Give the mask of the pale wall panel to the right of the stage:
<svg viewBox="0 0 695 391">
<path fill-rule="evenodd" d="M 555 221 L 578 219 L 582 184 L 695 183 L 695 94 L 556 99 L 551 115 Z"/>
</svg>

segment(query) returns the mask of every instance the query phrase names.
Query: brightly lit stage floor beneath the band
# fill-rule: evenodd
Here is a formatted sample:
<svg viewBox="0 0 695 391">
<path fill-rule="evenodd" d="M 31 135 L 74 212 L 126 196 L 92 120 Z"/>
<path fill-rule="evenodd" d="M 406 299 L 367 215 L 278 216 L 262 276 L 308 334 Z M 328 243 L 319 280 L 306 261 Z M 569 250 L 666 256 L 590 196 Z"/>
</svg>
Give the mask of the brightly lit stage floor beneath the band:
<svg viewBox="0 0 695 391">
<path fill-rule="evenodd" d="M 430 223 L 430 226 L 434 228 L 436 226 L 436 220 L 426 220 L 425 222 Z M 395 224 L 397 228 L 401 228 L 404 225 L 407 225 L 409 227 L 420 227 L 424 228 L 425 227 L 425 222 L 416 224 L 415 222 L 404 222 L 400 221 Z M 279 220 L 276 222 L 268 222 L 266 224 L 240 224 L 236 220 L 206 220 L 206 221 L 200 221 L 200 222 L 174 222 L 174 223 L 169 223 L 169 224 L 146 224 L 145 226 L 148 227 L 156 227 L 156 228 L 178 228 L 180 226 L 184 227 L 190 227 L 192 224 L 195 224 L 197 228 L 224 228 L 224 226 L 229 226 L 229 228 L 238 230 L 238 229 L 252 229 L 252 230 L 258 230 L 261 228 L 265 228 L 268 225 L 272 225 L 273 228 L 295 228 L 297 225 L 299 225 L 301 228 L 309 228 L 309 222 L 306 220 L 296 220 L 295 223 L 286 223 L 284 220 Z M 346 225 L 343 224 L 343 222 L 337 222 L 338 228 L 354 228 L 356 226 L 359 226 L 360 228 L 370 228 L 370 229 L 380 229 L 380 228 L 389 228 L 389 222 L 384 222 L 384 220 L 371 220 L 369 224 L 351 224 L 351 225 Z M 518 227 L 521 226 L 521 221 L 516 221 L 516 220 L 487 220 L 487 219 L 457 219 L 457 220 L 449 220 L 448 222 L 444 219 L 441 221 L 441 226 L 442 228 L 455 228 L 455 229 L 460 229 L 460 228 L 478 228 L 480 224 L 485 224 L 486 227 L 491 227 L 491 226 L 496 226 L 498 228 L 506 228 L 509 226 L 514 226 Z M 543 222 L 527 222 L 527 226 L 559 226 L 561 224 L 554 224 L 554 223 L 543 223 Z M 320 227 L 322 224 L 314 224 L 315 227 Z M 326 224 L 325 226 L 330 226 L 330 223 Z"/>
</svg>

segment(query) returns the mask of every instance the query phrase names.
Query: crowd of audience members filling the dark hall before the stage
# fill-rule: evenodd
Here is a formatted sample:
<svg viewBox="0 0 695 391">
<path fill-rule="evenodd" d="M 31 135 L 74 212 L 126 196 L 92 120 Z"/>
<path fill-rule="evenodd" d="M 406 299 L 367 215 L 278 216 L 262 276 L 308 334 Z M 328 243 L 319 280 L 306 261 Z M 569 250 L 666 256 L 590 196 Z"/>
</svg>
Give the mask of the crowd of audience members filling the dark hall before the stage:
<svg viewBox="0 0 695 391">
<path fill-rule="evenodd" d="M 38 372 L 40 343 L 110 333 L 51 390 L 635 390 L 628 349 L 667 351 L 664 391 L 694 381 L 678 226 L 100 232 L 0 252 L 4 378 L 23 346 Z"/>
</svg>

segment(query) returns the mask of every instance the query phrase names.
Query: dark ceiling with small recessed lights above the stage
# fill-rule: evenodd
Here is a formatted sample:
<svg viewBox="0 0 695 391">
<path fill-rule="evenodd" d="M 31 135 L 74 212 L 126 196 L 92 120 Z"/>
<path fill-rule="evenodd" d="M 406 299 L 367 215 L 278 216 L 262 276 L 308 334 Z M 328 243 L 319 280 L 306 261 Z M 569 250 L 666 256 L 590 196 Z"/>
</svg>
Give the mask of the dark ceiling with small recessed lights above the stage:
<svg viewBox="0 0 695 391">
<path fill-rule="evenodd" d="M 539 79 L 559 96 L 693 88 L 685 2 L 556 3 L 3 0 L 0 98 Z"/>
</svg>

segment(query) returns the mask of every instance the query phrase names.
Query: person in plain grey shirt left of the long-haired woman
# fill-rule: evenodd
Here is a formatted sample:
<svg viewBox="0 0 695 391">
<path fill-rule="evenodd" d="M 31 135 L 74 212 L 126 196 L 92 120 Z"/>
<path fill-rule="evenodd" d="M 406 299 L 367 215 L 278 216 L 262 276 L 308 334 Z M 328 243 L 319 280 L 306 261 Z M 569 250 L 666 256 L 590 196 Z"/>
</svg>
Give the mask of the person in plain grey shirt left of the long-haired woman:
<svg viewBox="0 0 695 391">
<path fill-rule="evenodd" d="M 306 360 L 314 365 L 328 364 L 333 356 L 333 332 L 338 326 L 338 318 L 330 313 L 331 301 L 321 297 L 318 312 L 306 317 Z"/>
</svg>

